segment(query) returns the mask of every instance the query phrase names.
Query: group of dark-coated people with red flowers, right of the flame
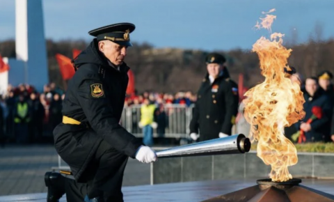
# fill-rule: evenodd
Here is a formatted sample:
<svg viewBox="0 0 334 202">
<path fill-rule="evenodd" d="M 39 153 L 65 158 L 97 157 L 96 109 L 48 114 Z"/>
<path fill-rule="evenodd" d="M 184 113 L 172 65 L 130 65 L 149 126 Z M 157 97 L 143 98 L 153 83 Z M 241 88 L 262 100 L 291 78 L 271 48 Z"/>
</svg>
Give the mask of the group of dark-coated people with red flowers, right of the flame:
<svg viewBox="0 0 334 202">
<path fill-rule="evenodd" d="M 305 118 L 285 130 L 285 135 L 299 143 L 334 141 L 333 74 L 325 70 L 314 77 L 292 75 L 303 91 Z"/>
</svg>

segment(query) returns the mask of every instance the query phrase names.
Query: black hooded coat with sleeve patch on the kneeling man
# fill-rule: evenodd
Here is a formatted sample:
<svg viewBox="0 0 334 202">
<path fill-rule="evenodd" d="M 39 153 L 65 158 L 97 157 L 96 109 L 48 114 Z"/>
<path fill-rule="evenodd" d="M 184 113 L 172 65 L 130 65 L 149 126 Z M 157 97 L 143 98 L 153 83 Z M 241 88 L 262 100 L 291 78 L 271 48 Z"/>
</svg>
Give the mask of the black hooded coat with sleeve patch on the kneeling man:
<svg viewBox="0 0 334 202">
<path fill-rule="evenodd" d="M 63 101 L 63 115 L 80 124 L 65 124 L 54 129 L 58 154 L 70 165 L 80 182 L 81 174 L 94 157 L 102 139 L 120 153 L 134 158 L 141 141 L 120 126 L 129 68 L 120 71 L 97 49 L 93 40 L 74 60 L 77 71 L 70 80 Z"/>
</svg>

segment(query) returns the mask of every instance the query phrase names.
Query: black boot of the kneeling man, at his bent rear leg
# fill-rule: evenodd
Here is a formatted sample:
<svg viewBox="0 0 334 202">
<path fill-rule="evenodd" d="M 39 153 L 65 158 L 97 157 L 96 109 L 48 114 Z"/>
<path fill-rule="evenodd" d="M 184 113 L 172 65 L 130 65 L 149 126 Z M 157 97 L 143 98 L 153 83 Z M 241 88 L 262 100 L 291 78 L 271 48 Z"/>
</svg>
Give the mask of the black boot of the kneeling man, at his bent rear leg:
<svg viewBox="0 0 334 202">
<path fill-rule="evenodd" d="M 47 186 L 47 202 L 58 202 L 65 194 L 65 179 L 61 173 L 45 173 L 45 186 Z"/>
</svg>

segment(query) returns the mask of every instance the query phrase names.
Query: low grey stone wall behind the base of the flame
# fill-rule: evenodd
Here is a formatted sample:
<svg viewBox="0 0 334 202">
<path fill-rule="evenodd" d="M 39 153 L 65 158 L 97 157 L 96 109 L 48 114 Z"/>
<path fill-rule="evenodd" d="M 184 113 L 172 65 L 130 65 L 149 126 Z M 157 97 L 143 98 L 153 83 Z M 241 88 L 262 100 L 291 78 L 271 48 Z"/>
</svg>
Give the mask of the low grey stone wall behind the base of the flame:
<svg viewBox="0 0 334 202">
<path fill-rule="evenodd" d="M 294 178 L 334 178 L 334 154 L 299 153 L 299 162 L 289 167 Z M 151 184 L 269 178 L 271 167 L 255 152 L 240 155 L 160 159 L 151 164 Z"/>
</svg>

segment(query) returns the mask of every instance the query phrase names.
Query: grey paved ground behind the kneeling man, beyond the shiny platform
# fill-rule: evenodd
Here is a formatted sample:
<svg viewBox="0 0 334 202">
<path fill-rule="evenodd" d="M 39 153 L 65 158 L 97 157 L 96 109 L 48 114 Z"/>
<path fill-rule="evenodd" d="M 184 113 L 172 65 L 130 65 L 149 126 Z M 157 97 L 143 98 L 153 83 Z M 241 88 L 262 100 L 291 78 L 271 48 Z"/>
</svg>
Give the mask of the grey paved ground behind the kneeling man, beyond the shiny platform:
<svg viewBox="0 0 334 202">
<path fill-rule="evenodd" d="M 7 146 L 0 148 L 0 196 L 47 192 L 44 174 L 58 166 L 52 146 Z M 150 164 L 129 160 L 124 186 L 150 184 Z"/>
</svg>

